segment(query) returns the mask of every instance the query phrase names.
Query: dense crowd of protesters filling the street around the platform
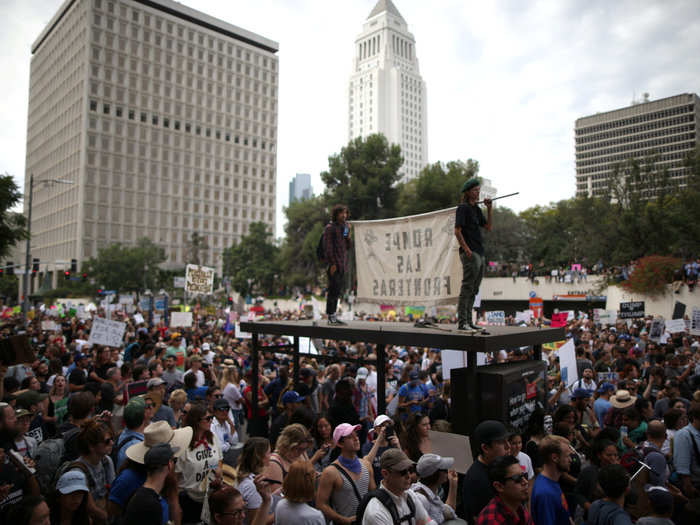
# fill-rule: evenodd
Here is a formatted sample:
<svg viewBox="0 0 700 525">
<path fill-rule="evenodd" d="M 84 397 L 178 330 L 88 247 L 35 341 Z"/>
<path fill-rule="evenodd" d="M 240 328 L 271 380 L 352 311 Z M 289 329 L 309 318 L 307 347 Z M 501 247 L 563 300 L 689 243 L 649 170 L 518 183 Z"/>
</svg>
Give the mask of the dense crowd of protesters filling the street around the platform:
<svg viewBox="0 0 700 525">
<path fill-rule="evenodd" d="M 578 379 L 547 352 L 527 426 L 479 423 L 458 474 L 430 438 L 452 419 L 437 349 L 386 348 L 381 414 L 372 344 L 323 341 L 333 363 L 294 370 L 274 348 L 288 342 L 264 337 L 253 370 L 224 312 L 185 329 L 112 314 L 118 348 L 88 343 L 91 319 L 48 313 L 3 319 L 37 359 L 0 367 L 2 523 L 700 523 L 699 343 L 652 340 L 650 319 L 569 321 Z"/>
</svg>

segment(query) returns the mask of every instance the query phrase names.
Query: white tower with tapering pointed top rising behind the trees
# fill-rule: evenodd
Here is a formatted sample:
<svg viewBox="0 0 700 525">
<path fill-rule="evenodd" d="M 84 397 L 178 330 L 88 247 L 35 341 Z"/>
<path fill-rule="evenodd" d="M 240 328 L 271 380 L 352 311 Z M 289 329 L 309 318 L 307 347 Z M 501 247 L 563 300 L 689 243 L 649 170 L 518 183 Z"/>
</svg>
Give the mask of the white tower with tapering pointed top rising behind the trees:
<svg viewBox="0 0 700 525">
<path fill-rule="evenodd" d="M 404 179 L 428 163 L 425 82 L 416 41 L 391 0 L 379 0 L 355 40 L 348 86 L 348 137 L 382 133 L 401 146 Z"/>
</svg>

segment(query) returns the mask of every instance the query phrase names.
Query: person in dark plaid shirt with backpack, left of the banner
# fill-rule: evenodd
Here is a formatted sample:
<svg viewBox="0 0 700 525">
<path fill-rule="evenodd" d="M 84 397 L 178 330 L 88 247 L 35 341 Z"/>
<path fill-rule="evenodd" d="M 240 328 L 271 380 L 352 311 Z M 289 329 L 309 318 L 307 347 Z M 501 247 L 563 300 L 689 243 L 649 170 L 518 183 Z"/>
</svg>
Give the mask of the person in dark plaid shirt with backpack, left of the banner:
<svg viewBox="0 0 700 525">
<path fill-rule="evenodd" d="M 329 325 L 344 325 L 335 311 L 343 291 L 347 270 L 347 252 L 350 249 L 350 225 L 347 223 L 348 208 L 344 204 L 333 206 L 331 222 L 323 230 L 323 252 L 328 264 L 328 291 L 326 293 L 326 314 Z"/>
</svg>

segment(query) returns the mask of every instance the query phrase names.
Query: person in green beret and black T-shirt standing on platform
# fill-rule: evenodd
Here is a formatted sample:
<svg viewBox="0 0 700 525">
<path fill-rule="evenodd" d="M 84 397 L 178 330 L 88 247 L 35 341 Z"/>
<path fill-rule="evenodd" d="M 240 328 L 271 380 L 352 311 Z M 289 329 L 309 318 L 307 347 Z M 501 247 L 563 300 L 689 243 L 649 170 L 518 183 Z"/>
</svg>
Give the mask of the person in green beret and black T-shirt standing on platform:
<svg viewBox="0 0 700 525">
<path fill-rule="evenodd" d="M 484 243 L 481 229 L 491 231 L 493 225 L 493 208 L 491 199 L 484 199 L 487 218 L 477 205 L 481 179 L 472 177 L 462 186 L 462 202 L 457 206 L 455 217 L 455 237 L 459 243 L 459 258 L 462 261 L 462 288 L 459 292 L 457 305 L 457 329 L 466 330 L 479 328 L 472 323 L 474 297 L 479 292 L 481 278 L 484 275 L 485 261 Z"/>
</svg>

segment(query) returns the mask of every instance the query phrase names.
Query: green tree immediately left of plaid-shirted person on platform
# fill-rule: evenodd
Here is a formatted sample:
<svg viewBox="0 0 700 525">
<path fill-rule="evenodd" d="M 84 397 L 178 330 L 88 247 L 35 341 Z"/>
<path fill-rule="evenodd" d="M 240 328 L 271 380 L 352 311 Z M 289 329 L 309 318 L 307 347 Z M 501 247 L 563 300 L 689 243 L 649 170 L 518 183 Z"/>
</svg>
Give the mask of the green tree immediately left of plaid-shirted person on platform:
<svg viewBox="0 0 700 525">
<path fill-rule="evenodd" d="M 323 269 L 316 258 L 316 246 L 329 220 L 323 196 L 293 202 L 284 209 L 287 224 L 280 248 L 280 265 L 286 286 L 317 284 Z"/>
</svg>

